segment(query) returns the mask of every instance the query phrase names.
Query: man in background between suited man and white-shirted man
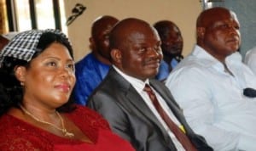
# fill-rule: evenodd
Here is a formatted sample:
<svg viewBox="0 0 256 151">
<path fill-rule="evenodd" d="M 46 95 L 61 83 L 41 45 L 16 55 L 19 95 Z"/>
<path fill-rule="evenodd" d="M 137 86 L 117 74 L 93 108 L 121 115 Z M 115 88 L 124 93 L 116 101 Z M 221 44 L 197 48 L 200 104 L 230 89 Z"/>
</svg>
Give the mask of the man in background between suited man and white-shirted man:
<svg viewBox="0 0 256 151">
<path fill-rule="evenodd" d="M 161 49 L 164 54 L 155 78 L 166 81 L 172 69 L 183 59 L 183 36 L 177 25 L 170 20 L 160 20 L 154 24 L 154 28 L 160 36 Z"/>
</svg>

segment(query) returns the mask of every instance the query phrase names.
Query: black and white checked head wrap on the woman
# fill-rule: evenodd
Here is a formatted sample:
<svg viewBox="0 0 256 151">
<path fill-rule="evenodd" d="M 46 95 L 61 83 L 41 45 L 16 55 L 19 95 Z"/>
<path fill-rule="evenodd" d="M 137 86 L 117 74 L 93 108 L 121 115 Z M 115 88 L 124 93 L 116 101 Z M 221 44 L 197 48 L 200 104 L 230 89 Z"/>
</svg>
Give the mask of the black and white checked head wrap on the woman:
<svg viewBox="0 0 256 151">
<path fill-rule="evenodd" d="M 29 62 L 37 51 L 40 37 L 45 32 L 52 32 L 67 38 L 61 31 L 53 29 L 20 32 L 0 52 L 0 67 L 5 57 L 13 57 Z"/>
</svg>

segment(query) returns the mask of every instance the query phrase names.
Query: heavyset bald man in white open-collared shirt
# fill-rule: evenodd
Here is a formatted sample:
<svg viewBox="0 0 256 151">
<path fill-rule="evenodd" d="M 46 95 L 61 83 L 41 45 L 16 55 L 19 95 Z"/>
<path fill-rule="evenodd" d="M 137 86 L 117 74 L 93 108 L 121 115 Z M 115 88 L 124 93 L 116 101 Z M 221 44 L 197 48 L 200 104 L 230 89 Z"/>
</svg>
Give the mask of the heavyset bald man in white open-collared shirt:
<svg viewBox="0 0 256 151">
<path fill-rule="evenodd" d="M 256 150 L 256 98 L 243 94 L 256 77 L 237 52 L 239 28 L 227 8 L 203 11 L 194 50 L 166 81 L 189 126 L 218 151 Z"/>
</svg>

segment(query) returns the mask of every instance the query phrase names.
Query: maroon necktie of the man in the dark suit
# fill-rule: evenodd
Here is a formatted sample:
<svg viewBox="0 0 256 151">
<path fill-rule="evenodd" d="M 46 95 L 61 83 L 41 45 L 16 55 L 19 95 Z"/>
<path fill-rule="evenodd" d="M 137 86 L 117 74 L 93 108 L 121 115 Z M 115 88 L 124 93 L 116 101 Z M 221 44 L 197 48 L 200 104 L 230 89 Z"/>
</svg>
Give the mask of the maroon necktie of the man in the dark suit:
<svg viewBox="0 0 256 151">
<path fill-rule="evenodd" d="M 181 131 L 181 129 L 178 128 L 178 126 L 166 114 L 165 110 L 162 109 L 159 101 L 157 100 L 150 86 L 146 84 L 143 90 L 148 93 L 149 98 L 154 104 L 154 108 L 158 111 L 161 118 L 166 122 L 166 125 L 170 128 L 170 130 L 173 132 L 175 137 L 177 137 L 177 140 L 183 145 L 183 148 L 185 148 L 187 151 L 196 151 L 195 146 L 190 142 L 189 137 L 187 137 L 183 133 L 183 131 Z"/>
</svg>

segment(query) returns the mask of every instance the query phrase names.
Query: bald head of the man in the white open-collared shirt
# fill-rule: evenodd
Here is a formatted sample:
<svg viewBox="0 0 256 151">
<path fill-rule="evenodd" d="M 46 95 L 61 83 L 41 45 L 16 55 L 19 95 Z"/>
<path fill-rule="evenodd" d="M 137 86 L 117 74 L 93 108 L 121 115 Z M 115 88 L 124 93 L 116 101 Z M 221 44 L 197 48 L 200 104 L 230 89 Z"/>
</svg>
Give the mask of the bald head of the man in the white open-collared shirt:
<svg viewBox="0 0 256 151">
<path fill-rule="evenodd" d="M 197 45 L 224 62 L 240 47 L 239 30 L 240 24 L 234 12 L 227 8 L 209 8 L 201 12 L 196 22 Z"/>
</svg>

